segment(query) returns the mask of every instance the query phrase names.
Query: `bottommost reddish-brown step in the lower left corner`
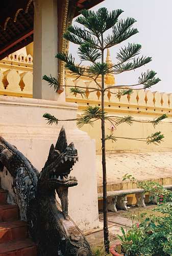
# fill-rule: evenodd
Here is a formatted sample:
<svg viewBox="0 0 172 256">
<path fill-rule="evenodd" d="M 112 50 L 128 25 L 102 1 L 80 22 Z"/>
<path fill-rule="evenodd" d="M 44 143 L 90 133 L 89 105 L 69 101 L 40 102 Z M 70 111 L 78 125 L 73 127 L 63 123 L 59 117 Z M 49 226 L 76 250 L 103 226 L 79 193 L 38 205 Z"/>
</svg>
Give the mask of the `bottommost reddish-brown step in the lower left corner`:
<svg viewBox="0 0 172 256">
<path fill-rule="evenodd" d="M 3 243 L 0 256 L 37 256 L 36 245 L 30 239 Z"/>
</svg>

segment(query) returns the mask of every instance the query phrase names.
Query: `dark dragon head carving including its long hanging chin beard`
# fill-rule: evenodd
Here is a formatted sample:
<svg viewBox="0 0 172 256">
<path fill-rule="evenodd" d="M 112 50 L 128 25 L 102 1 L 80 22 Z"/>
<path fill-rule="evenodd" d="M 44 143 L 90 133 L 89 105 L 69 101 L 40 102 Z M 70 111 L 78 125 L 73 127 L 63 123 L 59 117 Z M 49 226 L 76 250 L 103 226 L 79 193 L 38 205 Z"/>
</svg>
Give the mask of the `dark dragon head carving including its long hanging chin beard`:
<svg viewBox="0 0 172 256">
<path fill-rule="evenodd" d="M 60 131 L 56 146 L 51 145 L 47 161 L 42 168 L 39 187 L 57 192 L 62 205 L 64 218 L 68 215 L 68 187 L 78 185 L 76 177 L 69 176 L 73 165 L 78 161 L 78 152 L 71 142 L 67 145 L 64 127 Z"/>
</svg>

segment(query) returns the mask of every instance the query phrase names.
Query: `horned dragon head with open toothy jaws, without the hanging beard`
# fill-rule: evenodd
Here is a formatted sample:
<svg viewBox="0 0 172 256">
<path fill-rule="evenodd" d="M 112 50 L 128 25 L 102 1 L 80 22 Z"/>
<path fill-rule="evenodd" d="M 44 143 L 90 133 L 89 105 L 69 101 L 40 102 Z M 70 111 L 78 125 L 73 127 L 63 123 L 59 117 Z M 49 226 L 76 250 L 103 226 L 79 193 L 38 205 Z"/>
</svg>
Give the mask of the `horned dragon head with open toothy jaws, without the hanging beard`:
<svg viewBox="0 0 172 256">
<path fill-rule="evenodd" d="M 78 161 L 78 152 L 71 142 L 67 145 L 66 133 L 62 127 L 56 146 L 51 145 L 48 159 L 42 169 L 41 178 L 56 187 L 71 187 L 78 184 L 76 177 L 69 176 L 73 165 Z"/>
</svg>

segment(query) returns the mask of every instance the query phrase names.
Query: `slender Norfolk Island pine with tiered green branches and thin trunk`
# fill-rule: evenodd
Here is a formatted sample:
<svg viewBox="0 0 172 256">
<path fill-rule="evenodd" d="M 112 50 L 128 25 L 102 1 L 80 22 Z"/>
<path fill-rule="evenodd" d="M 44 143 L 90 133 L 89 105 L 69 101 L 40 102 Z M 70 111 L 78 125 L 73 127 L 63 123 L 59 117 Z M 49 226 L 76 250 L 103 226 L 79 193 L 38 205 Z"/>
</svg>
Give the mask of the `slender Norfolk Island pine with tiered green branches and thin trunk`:
<svg viewBox="0 0 172 256">
<path fill-rule="evenodd" d="M 77 78 L 81 76 L 87 76 L 90 80 L 94 81 L 96 87 L 89 87 L 89 93 L 99 91 L 101 93 L 101 106 L 88 106 L 82 116 L 76 119 L 64 119 L 60 120 L 58 117 L 52 116 L 51 113 L 45 113 L 43 117 L 47 120 L 48 124 L 58 124 L 59 121 L 71 121 L 76 120 L 79 127 L 84 124 L 93 125 L 96 120 L 101 120 L 102 129 L 102 170 L 103 170 L 103 214 L 104 214 L 104 245 L 105 251 L 109 253 L 109 232 L 108 232 L 108 219 L 107 219 L 107 179 L 106 179 L 106 140 L 117 141 L 117 139 L 131 139 L 145 141 L 148 144 L 159 144 L 164 136 L 161 132 L 155 132 L 154 134 L 146 138 L 128 138 L 128 137 L 116 137 L 115 135 L 105 135 L 105 122 L 110 122 L 113 126 L 117 126 L 124 122 L 131 125 L 133 122 L 138 122 L 131 116 L 118 117 L 109 116 L 105 112 L 105 93 L 109 90 L 116 97 L 132 94 L 133 90 L 149 89 L 154 84 L 160 81 L 156 78 L 156 73 L 153 70 L 147 70 L 138 77 L 138 81 L 130 86 L 112 85 L 105 86 L 105 76 L 108 74 L 118 75 L 122 72 L 132 71 L 140 68 L 146 63 L 149 63 L 152 58 L 139 56 L 141 45 L 128 44 L 125 47 L 120 47 L 119 52 L 116 54 L 116 63 L 109 66 L 104 61 L 104 52 L 106 49 L 116 47 L 121 42 L 127 40 L 129 37 L 138 33 L 136 28 L 133 28 L 133 24 L 136 22 L 134 18 L 119 19 L 120 14 L 123 11 L 113 10 L 108 12 L 106 8 L 100 8 L 96 12 L 91 10 L 82 10 L 81 16 L 76 19 L 76 22 L 81 26 L 69 26 L 64 33 L 63 37 L 77 44 L 78 55 L 82 61 L 90 61 L 91 64 L 87 68 L 81 67 L 81 63 L 78 65 L 75 63 L 75 58 L 68 52 L 58 53 L 56 57 L 65 62 L 65 68 L 71 73 L 77 75 Z M 107 31 L 110 34 L 107 35 Z M 105 35 L 106 34 L 106 35 Z M 98 77 L 102 77 L 101 82 L 97 81 Z M 54 87 L 55 93 L 60 88 L 58 78 L 44 75 L 43 79 L 48 82 L 48 85 Z M 65 85 L 65 87 L 70 87 Z M 141 88 L 140 88 L 141 87 Z M 114 92 L 113 89 L 118 89 L 118 92 Z M 77 86 L 75 88 L 70 87 L 70 92 L 74 94 L 80 94 L 85 96 L 86 88 L 83 86 Z M 152 123 L 155 127 L 162 119 L 166 118 L 166 114 L 150 121 L 140 121 L 145 123 Z"/>
</svg>

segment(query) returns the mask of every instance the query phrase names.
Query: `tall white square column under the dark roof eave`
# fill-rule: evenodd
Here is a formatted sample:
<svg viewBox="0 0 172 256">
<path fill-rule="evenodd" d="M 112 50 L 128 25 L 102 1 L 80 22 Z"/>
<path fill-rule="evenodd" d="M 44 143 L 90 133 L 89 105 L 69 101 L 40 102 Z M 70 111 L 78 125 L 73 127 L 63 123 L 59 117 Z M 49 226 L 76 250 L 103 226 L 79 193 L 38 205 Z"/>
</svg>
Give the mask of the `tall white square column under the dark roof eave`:
<svg viewBox="0 0 172 256">
<path fill-rule="evenodd" d="M 35 0 L 33 98 L 65 101 L 65 92 L 55 93 L 43 75 L 58 76 L 57 0 Z"/>
</svg>

